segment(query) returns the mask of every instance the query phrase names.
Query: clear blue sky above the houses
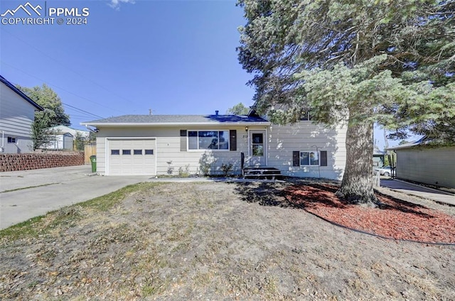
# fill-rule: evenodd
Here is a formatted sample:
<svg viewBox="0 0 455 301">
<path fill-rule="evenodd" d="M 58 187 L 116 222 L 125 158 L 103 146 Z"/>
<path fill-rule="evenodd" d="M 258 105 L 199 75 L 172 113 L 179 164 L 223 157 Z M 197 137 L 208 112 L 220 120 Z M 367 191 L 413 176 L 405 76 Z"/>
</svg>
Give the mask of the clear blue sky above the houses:
<svg viewBox="0 0 455 301">
<path fill-rule="evenodd" d="M 0 13 L 27 2 L 40 5 L 42 13 L 90 11 L 87 24 L 68 25 L 62 16 L 58 25 L 53 16 L 48 25 L 0 26 L 1 75 L 25 87 L 48 84 L 75 128 L 97 116 L 149 109 L 223 114 L 239 102 L 252 105 L 254 89 L 246 85 L 252 75 L 242 70 L 235 51 L 237 27 L 245 19 L 234 0 L 1 0 Z M 17 11 L 14 17 L 28 16 Z M 382 131 L 375 136 L 383 146 Z"/>
</svg>

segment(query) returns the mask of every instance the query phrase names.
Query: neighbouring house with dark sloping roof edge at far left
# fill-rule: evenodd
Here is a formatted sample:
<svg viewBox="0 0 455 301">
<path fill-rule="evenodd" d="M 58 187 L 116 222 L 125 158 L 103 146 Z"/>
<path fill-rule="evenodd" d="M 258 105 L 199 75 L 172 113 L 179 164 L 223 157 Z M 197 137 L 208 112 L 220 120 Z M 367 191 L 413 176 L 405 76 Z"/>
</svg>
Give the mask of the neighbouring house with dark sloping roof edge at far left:
<svg viewBox="0 0 455 301">
<path fill-rule="evenodd" d="M 33 151 L 31 124 L 43 108 L 0 75 L 0 153 Z"/>
</svg>

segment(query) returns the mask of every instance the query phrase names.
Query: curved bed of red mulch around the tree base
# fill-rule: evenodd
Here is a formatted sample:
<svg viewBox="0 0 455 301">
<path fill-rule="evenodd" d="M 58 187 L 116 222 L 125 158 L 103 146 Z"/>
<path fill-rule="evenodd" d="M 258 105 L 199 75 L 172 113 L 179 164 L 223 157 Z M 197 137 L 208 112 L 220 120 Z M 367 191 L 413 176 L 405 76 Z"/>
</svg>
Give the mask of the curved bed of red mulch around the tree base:
<svg viewBox="0 0 455 301">
<path fill-rule="evenodd" d="M 295 185 L 284 190 L 287 200 L 318 217 L 387 239 L 455 243 L 455 217 L 401 199 L 378 195 L 385 204 L 365 208 L 336 197 L 333 185 Z"/>
</svg>

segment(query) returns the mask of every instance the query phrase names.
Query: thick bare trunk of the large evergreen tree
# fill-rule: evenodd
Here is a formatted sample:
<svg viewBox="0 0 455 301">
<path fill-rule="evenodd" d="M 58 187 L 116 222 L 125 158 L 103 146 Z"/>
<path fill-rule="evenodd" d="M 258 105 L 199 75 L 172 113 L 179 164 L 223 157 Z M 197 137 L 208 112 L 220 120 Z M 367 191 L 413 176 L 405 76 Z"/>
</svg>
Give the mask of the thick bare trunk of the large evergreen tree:
<svg viewBox="0 0 455 301">
<path fill-rule="evenodd" d="M 378 207 L 373 190 L 373 124 L 353 123 L 346 134 L 346 169 L 336 195 L 350 204 Z"/>
</svg>

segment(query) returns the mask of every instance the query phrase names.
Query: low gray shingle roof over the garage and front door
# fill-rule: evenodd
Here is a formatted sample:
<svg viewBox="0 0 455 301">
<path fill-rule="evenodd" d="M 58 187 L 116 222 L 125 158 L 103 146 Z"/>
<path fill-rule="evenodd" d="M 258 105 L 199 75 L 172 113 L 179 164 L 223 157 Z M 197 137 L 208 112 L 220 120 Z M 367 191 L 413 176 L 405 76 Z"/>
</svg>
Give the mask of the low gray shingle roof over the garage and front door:
<svg viewBox="0 0 455 301">
<path fill-rule="evenodd" d="M 239 115 L 124 115 L 82 122 L 87 125 L 102 124 L 255 124 L 269 121 L 256 116 Z"/>
</svg>

